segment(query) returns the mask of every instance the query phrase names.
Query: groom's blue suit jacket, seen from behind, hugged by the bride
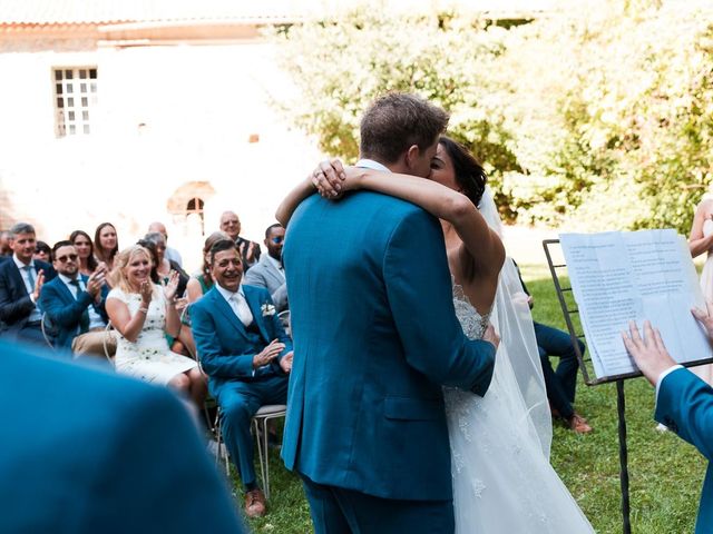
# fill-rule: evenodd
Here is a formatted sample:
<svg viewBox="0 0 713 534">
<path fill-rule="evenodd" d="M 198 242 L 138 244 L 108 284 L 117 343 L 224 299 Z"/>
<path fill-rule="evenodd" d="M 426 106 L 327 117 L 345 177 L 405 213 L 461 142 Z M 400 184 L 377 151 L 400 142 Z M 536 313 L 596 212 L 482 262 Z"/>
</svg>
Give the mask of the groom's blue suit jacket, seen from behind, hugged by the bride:
<svg viewBox="0 0 713 534">
<path fill-rule="evenodd" d="M 374 192 L 315 195 L 290 221 L 283 260 L 287 468 L 379 497 L 450 498 L 441 385 L 485 394 L 495 349 L 456 318 L 438 220 Z"/>
</svg>

